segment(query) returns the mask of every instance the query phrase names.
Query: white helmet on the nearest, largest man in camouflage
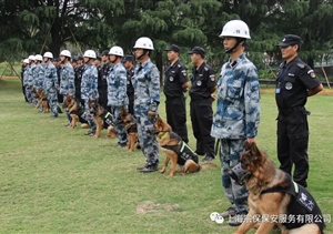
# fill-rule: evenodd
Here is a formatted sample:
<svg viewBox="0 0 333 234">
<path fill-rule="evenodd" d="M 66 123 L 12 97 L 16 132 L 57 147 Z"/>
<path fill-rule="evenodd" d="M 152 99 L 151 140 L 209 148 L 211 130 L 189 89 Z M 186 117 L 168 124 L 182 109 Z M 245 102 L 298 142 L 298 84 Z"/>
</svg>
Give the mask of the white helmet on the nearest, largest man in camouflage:
<svg viewBox="0 0 333 234">
<path fill-rule="evenodd" d="M 220 38 L 234 37 L 251 39 L 248 24 L 242 20 L 231 20 L 222 29 Z"/>
</svg>

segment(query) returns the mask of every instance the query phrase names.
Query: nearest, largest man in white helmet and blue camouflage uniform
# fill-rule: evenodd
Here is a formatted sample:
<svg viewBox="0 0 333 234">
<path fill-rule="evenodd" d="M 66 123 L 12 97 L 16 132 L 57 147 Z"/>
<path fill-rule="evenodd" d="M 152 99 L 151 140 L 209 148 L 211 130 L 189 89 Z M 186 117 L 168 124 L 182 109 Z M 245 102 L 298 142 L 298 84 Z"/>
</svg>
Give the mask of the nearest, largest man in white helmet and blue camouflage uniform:
<svg viewBox="0 0 333 234">
<path fill-rule="evenodd" d="M 255 65 L 245 57 L 250 30 L 241 20 L 229 21 L 220 37 L 230 60 L 223 64 L 218 81 L 218 109 L 211 135 L 221 141 L 222 185 L 232 207 L 222 213 L 229 224 L 240 225 L 235 218 L 248 213 L 245 185 L 232 181 L 228 174 L 244 152 L 244 142 L 255 142 L 260 122 L 260 87 Z"/>
</svg>

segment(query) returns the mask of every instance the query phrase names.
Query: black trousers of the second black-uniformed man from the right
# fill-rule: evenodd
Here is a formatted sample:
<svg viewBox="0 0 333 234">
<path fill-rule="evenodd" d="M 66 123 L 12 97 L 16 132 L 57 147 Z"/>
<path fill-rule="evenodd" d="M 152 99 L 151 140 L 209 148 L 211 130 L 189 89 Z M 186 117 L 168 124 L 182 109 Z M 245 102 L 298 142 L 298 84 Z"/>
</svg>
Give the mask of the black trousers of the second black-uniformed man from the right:
<svg viewBox="0 0 333 234">
<path fill-rule="evenodd" d="M 212 100 L 191 100 L 190 108 L 193 134 L 196 139 L 195 152 L 200 155 L 205 154 L 206 156 L 215 157 L 215 139 L 211 136 L 211 128 L 213 123 Z"/>
</svg>

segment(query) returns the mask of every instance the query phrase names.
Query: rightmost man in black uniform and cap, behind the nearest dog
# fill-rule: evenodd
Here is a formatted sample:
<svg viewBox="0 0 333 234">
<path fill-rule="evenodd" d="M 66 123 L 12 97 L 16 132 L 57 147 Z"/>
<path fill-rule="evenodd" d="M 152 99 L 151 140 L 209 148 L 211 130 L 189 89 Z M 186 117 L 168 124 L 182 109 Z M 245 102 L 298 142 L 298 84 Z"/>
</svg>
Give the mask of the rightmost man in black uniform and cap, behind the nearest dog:
<svg viewBox="0 0 333 234">
<path fill-rule="evenodd" d="M 323 89 L 314 71 L 299 57 L 301 38 L 294 34 L 284 35 L 281 43 L 282 58 L 276 79 L 275 100 L 278 116 L 278 159 L 280 169 L 291 174 L 294 164 L 293 180 L 306 187 L 309 173 L 307 144 L 309 126 L 304 105 L 307 96 Z"/>
</svg>

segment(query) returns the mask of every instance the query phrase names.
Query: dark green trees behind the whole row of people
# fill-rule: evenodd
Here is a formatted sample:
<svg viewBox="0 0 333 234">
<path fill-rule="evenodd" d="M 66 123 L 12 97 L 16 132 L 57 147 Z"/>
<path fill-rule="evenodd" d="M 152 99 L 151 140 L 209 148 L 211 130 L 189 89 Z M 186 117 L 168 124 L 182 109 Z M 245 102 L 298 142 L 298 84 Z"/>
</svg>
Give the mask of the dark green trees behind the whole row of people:
<svg viewBox="0 0 333 234">
<path fill-rule="evenodd" d="M 232 19 L 249 24 L 248 52 L 259 69 L 268 55 L 280 60 L 276 44 L 287 33 L 302 38 L 301 58 L 311 67 L 332 53 L 333 0 L 1 0 L 0 60 L 59 54 L 64 48 L 73 54 L 101 52 L 114 44 L 131 53 L 135 40 L 145 35 L 154 42 L 160 71 L 171 43 L 182 48 L 185 63 L 188 50 L 203 47 L 218 71 L 228 59 L 218 35 Z"/>
</svg>

